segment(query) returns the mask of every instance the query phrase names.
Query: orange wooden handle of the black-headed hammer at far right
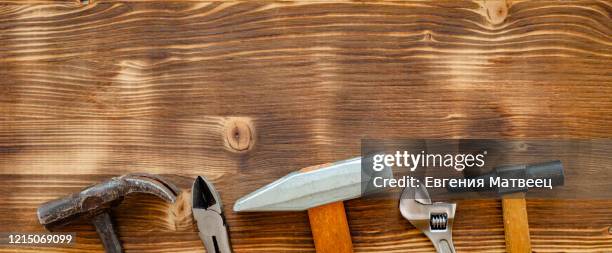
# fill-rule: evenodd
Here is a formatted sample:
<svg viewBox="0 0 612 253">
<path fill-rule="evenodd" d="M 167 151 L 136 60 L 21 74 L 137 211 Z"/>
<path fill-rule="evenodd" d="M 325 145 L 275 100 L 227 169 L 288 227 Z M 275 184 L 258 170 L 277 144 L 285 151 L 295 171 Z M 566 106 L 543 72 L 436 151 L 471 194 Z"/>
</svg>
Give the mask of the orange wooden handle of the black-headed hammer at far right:
<svg viewBox="0 0 612 253">
<path fill-rule="evenodd" d="M 509 253 L 531 252 L 529 222 L 525 194 L 522 192 L 502 197 L 506 251 Z"/>
</svg>

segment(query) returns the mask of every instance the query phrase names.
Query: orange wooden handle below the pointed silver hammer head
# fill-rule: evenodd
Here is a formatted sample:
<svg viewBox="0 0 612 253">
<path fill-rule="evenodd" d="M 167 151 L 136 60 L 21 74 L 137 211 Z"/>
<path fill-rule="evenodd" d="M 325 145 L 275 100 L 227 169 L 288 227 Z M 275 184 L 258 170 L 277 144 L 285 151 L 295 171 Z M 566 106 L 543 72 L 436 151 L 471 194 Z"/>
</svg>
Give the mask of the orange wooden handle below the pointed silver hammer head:
<svg viewBox="0 0 612 253">
<path fill-rule="evenodd" d="M 352 253 L 353 242 L 342 202 L 308 209 L 317 253 Z"/>
</svg>

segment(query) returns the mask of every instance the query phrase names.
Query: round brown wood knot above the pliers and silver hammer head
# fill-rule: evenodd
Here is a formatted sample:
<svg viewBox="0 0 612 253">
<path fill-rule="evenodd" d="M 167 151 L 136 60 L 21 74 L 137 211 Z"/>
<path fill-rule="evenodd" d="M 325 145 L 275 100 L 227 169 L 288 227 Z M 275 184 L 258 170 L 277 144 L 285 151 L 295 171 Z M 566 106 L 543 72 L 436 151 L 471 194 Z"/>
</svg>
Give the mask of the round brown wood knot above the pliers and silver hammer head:
<svg viewBox="0 0 612 253">
<path fill-rule="evenodd" d="M 225 142 L 233 152 L 245 152 L 253 147 L 254 131 L 248 118 L 232 117 L 225 124 Z"/>
</svg>

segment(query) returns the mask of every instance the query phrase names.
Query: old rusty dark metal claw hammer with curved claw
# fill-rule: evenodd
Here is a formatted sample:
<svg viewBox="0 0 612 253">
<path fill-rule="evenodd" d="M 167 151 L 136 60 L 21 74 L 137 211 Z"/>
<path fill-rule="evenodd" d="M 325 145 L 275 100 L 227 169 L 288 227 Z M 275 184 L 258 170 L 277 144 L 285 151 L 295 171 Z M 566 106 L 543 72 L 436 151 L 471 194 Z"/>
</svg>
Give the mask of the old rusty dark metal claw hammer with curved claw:
<svg viewBox="0 0 612 253">
<path fill-rule="evenodd" d="M 152 194 L 174 203 L 180 190 L 158 176 L 127 174 L 42 204 L 38 208 L 38 220 L 45 228 L 53 230 L 77 219 L 92 219 L 106 252 L 120 253 L 122 247 L 113 229 L 109 209 L 119 205 L 131 193 Z"/>
</svg>

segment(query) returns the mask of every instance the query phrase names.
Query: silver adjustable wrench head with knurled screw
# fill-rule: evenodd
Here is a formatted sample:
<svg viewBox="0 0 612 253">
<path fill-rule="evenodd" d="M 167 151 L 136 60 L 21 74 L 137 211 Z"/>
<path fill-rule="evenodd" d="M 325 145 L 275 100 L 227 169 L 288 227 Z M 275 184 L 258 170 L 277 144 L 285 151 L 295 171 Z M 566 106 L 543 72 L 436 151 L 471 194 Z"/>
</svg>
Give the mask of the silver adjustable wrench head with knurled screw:
<svg viewBox="0 0 612 253">
<path fill-rule="evenodd" d="M 454 253 L 453 221 L 457 204 L 431 202 L 427 188 L 406 187 L 400 198 L 400 212 L 412 225 L 421 230 L 439 253 Z"/>
</svg>

